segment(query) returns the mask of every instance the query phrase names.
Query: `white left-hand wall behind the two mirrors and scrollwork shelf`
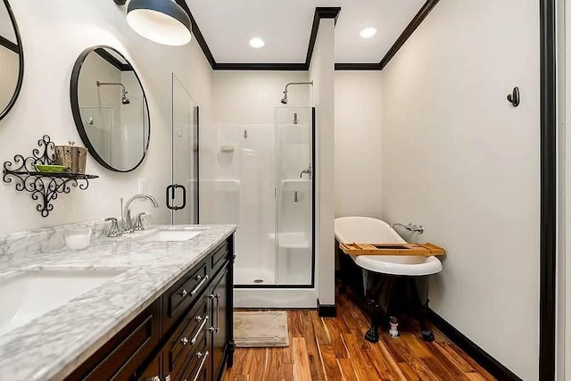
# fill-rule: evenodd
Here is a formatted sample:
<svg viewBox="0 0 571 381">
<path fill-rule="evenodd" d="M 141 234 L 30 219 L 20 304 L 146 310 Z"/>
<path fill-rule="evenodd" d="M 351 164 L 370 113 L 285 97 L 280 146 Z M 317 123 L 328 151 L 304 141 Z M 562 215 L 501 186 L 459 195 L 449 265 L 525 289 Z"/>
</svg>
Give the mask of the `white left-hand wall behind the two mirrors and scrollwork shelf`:
<svg viewBox="0 0 571 381">
<path fill-rule="evenodd" d="M 0 233 L 101 219 L 120 213 L 119 197 L 138 193 L 138 179 L 147 179 L 147 192 L 161 209 L 155 222 L 168 222 L 164 188 L 170 182 L 170 76 L 175 72 L 201 107 L 201 128 L 211 126 L 211 68 L 195 40 L 189 46 L 160 46 L 128 28 L 125 7 L 112 1 L 12 2 L 21 30 L 26 71 L 20 98 L 0 120 L 0 159 L 29 154 L 37 140 L 48 134 L 57 143 L 80 142 L 70 110 L 71 68 L 87 47 L 109 45 L 125 54 L 145 88 L 151 115 L 151 145 L 145 162 L 128 174 L 104 170 L 91 158 L 87 172 L 99 175 L 86 191 L 73 189 L 54 201 L 46 219 L 36 211 L 27 193 L 12 184 L 0 184 Z"/>
</svg>

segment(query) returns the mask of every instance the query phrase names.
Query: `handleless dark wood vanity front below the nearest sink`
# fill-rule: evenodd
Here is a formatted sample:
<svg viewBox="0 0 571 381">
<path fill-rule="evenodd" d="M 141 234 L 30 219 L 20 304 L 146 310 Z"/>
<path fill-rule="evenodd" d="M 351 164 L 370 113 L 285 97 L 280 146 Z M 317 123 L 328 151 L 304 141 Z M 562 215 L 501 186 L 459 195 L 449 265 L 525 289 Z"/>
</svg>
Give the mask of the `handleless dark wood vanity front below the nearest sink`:
<svg viewBox="0 0 571 381">
<path fill-rule="evenodd" d="M 159 344 L 159 307 L 153 302 L 67 379 L 127 380 L 135 374 Z"/>
</svg>

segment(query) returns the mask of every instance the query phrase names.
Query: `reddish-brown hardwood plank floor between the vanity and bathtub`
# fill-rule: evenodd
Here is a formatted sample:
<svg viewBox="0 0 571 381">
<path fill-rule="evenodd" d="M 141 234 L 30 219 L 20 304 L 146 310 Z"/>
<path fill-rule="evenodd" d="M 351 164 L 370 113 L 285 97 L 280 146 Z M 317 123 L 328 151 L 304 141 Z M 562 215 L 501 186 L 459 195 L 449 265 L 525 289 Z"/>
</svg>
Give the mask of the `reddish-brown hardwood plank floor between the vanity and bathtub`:
<svg viewBox="0 0 571 381">
<path fill-rule="evenodd" d="M 237 348 L 225 381 L 320 380 L 493 380 L 434 327 L 426 343 L 418 324 L 401 321 L 401 335 L 380 332 L 377 344 L 365 341 L 368 318 L 347 295 L 337 293 L 337 318 L 317 311 L 287 312 L 287 348 Z"/>
</svg>

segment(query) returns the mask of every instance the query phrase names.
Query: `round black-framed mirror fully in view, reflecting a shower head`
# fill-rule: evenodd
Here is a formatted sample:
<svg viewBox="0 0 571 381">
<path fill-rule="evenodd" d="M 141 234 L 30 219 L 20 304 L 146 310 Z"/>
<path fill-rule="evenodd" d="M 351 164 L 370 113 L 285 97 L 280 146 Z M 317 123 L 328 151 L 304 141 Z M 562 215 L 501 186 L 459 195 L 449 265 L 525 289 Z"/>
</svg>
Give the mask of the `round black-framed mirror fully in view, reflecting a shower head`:
<svg viewBox="0 0 571 381">
<path fill-rule="evenodd" d="M 123 54 L 93 46 L 79 54 L 71 73 L 71 111 L 91 156 L 117 172 L 145 160 L 151 121 L 145 90 Z"/>
</svg>

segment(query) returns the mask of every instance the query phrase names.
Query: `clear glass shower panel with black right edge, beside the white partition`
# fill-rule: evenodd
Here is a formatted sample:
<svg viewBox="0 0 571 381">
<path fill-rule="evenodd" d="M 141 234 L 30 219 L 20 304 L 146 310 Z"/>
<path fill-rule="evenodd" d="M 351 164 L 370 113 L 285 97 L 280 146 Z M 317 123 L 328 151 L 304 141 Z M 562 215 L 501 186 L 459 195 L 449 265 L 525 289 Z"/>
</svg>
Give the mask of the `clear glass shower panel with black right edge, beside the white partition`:
<svg viewBox="0 0 571 381">
<path fill-rule="evenodd" d="M 277 285 L 313 284 L 314 111 L 276 109 Z"/>
</svg>

